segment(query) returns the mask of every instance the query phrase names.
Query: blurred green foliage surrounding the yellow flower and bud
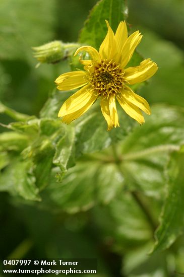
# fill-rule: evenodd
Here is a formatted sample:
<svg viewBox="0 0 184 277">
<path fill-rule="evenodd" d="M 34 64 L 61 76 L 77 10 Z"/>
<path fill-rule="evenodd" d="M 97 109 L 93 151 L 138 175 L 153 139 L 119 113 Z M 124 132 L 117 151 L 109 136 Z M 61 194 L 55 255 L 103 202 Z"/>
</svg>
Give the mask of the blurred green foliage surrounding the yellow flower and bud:
<svg viewBox="0 0 184 277">
<path fill-rule="evenodd" d="M 179 276 L 184 6 L 101 0 L 88 16 L 94 5 L 0 2 L 1 258 L 92 257 L 100 277 Z M 53 81 L 76 60 L 35 68 L 32 46 L 57 39 L 98 47 L 105 19 L 113 30 L 126 19 L 130 33 L 142 32 L 133 65 L 142 56 L 158 63 L 136 88 L 152 108 L 141 127 L 120 109 L 120 128 L 107 132 L 98 103 L 71 125 L 60 123 L 57 111 L 71 92 L 56 91 Z"/>
</svg>

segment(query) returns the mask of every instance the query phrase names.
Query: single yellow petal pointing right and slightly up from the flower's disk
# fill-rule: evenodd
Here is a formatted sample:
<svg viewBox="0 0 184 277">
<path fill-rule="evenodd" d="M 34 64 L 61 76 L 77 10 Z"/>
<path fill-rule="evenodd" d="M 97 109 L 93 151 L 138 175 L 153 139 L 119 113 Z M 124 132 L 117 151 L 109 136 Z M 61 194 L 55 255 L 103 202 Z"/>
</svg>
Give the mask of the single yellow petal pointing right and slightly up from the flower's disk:
<svg viewBox="0 0 184 277">
<path fill-rule="evenodd" d="M 148 80 L 157 70 L 158 66 L 155 62 L 151 59 L 145 59 L 138 66 L 126 68 L 124 78 L 133 85 Z"/>
</svg>

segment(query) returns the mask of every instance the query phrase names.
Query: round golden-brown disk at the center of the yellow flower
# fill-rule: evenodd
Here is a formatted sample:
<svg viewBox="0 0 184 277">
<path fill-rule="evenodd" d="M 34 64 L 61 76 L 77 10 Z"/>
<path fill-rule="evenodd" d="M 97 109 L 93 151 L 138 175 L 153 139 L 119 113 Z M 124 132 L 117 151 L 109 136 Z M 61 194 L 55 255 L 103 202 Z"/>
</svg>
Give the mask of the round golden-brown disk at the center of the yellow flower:
<svg viewBox="0 0 184 277">
<path fill-rule="evenodd" d="M 124 72 L 120 64 L 103 59 L 94 64 L 94 71 L 89 77 L 89 83 L 97 92 L 98 96 L 109 97 L 117 94 L 124 86 Z"/>
</svg>

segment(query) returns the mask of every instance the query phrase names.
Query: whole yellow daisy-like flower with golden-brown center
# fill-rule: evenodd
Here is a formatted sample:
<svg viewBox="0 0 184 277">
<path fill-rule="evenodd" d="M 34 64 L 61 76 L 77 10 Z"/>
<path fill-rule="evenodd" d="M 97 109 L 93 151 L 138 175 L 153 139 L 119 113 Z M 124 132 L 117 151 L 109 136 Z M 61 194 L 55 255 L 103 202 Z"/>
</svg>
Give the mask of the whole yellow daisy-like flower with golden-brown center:
<svg viewBox="0 0 184 277">
<path fill-rule="evenodd" d="M 134 50 L 141 41 L 139 31 L 128 37 L 126 22 L 120 22 L 115 35 L 106 21 L 108 32 L 100 45 L 99 52 L 91 46 L 77 49 L 89 53 L 90 60 L 82 60 L 84 71 L 69 72 L 60 75 L 55 83 L 58 90 L 73 90 L 74 93 L 60 108 L 58 117 L 69 124 L 84 114 L 100 98 L 102 114 L 107 121 L 108 130 L 119 126 L 116 101 L 125 112 L 140 124 L 144 123 L 141 110 L 150 114 L 148 102 L 132 91 L 128 85 L 144 82 L 157 71 L 157 64 L 150 59 L 143 60 L 140 65 L 125 68 Z"/>
</svg>

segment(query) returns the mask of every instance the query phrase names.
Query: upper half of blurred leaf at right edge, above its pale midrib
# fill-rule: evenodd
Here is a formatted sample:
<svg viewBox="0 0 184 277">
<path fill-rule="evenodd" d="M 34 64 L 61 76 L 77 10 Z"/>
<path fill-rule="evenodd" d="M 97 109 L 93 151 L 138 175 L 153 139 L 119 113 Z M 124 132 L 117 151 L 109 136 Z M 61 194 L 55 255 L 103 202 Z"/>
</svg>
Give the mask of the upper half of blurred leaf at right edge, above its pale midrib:
<svg viewBox="0 0 184 277">
<path fill-rule="evenodd" d="M 184 109 L 168 105 L 158 104 L 151 108 L 151 115 L 144 115 L 145 123 L 134 129 L 122 146 L 124 153 L 132 153 L 146 150 L 150 147 L 163 145 L 182 145 L 184 142 L 183 124 Z M 169 147 L 168 147 L 169 148 Z M 169 150 L 169 149 L 168 149 Z M 152 149 L 151 153 L 159 153 L 161 149 Z M 139 157 L 137 157 L 138 159 Z"/>
</svg>

